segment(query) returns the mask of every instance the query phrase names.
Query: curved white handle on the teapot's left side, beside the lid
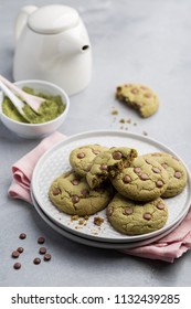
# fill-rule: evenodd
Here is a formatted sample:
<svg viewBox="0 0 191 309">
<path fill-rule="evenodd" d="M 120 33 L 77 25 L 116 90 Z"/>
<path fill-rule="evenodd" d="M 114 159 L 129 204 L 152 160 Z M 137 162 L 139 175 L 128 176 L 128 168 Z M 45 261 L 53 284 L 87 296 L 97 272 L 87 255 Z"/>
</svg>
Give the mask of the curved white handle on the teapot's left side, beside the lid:
<svg viewBox="0 0 191 309">
<path fill-rule="evenodd" d="M 14 38 L 15 41 L 20 38 L 24 25 L 26 24 L 28 17 L 38 9 L 35 6 L 23 7 L 17 15 L 14 23 Z"/>
</svg>

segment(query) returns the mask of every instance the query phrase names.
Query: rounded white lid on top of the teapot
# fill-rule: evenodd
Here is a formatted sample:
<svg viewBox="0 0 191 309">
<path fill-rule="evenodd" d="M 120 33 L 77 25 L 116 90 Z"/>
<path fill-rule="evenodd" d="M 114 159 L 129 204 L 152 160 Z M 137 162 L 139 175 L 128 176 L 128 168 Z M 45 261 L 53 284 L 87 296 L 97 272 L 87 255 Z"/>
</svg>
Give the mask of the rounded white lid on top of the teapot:
<svg viewBox="0 0 191 309">
<path fill-rule="evenodd" d="M 39 33 L 55 34 L 75 26 L 78 20 L 79 17 L 75 9 L 62 4 L 52 4 L 41 7 L 31 13 L 28 25 Z"/>
</svg>

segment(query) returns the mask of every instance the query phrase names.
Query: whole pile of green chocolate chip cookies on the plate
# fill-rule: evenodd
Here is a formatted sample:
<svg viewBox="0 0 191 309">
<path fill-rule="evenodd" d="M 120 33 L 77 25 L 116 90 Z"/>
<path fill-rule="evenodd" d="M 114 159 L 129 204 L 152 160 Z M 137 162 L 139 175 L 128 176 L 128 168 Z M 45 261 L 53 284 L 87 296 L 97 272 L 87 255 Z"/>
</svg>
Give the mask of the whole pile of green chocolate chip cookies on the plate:
<svg viewBox="0 0 191 309">
<path fill-rule="evenodd" d="M 127 235 L 161 228 L 168 219 L 163 198 L 187 184 L 182 162 L 165 152 L 138 156 L 132 148 L 87 145 L 71 152 L 70 163 L 50 187 L 52 203 L 79 216 L 106 209 L 110 225 Z"/>
</svg>

